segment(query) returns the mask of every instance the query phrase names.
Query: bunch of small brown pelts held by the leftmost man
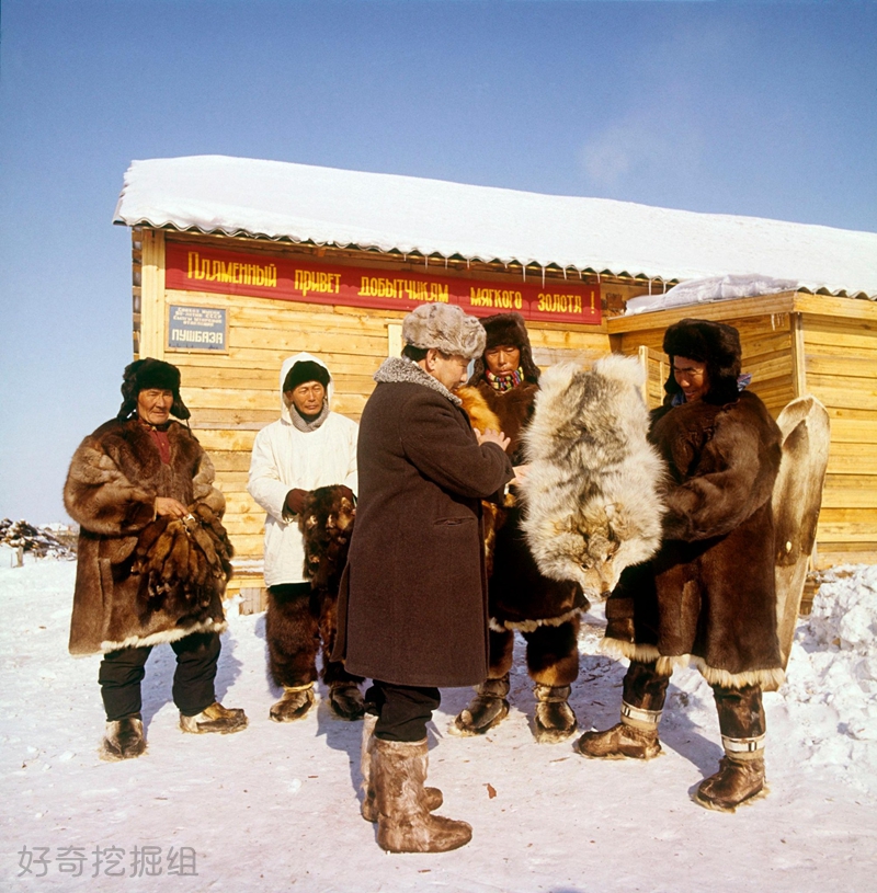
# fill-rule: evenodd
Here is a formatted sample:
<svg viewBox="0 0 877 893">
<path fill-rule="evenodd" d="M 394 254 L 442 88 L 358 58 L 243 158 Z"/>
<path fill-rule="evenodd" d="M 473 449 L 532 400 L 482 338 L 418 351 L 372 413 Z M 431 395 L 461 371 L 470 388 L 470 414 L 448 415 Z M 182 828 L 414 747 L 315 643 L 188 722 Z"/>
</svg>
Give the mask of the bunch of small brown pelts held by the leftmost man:
<svg viewBox="0 0 877 893">
<path fill-rule="evenodd" d="M 224 589 L 231 576 L 232 554 L 217 515 L 198 504 L 182 519 L 158 517 L 144 528 L 132 572 L 147 576 L 149 598 L 209 604 L 209 593 Z"/>
</svg>

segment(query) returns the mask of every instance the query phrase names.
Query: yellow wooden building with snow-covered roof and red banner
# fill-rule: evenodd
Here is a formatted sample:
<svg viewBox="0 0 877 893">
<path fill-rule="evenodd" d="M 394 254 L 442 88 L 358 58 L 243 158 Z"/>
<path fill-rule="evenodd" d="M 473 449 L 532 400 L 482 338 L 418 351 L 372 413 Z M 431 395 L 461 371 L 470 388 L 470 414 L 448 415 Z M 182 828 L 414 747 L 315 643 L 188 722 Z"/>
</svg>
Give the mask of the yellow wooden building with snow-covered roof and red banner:
<svg viewBox="0 0 877 893">
<path fill-rule="evenodd" d="M 751 241 L 729 241 L 747 221 Z M 426 300 L 520 311 L 542 367 L 638 355 L 650 405 L 670 323 L 736 325 L 774 415 L 808 392 L 831 414 L 816 566 L 877 562 L 877 234 L 223 157 L 134 162 L 115 222 L 132 231 L 134 355 L 182 371 L 226 494 L 229 593 L 243 610 L 263 588 L 250 450 L 278 417 L 281 364 L 321 357 L 332 408 L 358 420 L 372 375 L 401 350 L 402 318 Z M 663 261 L 642 261 L 662 247 Z M 629 299 L 681 279 L 753 270 L 800 285 L 625 316 Z"/>
</svg>

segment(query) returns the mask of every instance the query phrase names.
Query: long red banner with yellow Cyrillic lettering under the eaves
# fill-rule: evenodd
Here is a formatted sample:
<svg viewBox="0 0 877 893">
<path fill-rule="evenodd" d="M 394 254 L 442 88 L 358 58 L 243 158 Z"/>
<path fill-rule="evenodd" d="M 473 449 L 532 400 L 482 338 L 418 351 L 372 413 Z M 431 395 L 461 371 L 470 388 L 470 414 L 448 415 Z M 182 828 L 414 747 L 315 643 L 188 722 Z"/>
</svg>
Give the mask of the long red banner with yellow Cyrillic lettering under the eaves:
<svg viewBox="0 0 877 893">
<path fill-rule="evenodd" d="M 168 241 L 166 287 L 247 295 L 307 304 L 413 310 L 419 304 L 456 304 L 487 317 L 515 310 L 534 322 L 599 325 L 600 286 L 536 276 L 506 281 L 433 275 L 411 270 L 340 266 L 319 261 L 220 251 Z"/>
</svg>

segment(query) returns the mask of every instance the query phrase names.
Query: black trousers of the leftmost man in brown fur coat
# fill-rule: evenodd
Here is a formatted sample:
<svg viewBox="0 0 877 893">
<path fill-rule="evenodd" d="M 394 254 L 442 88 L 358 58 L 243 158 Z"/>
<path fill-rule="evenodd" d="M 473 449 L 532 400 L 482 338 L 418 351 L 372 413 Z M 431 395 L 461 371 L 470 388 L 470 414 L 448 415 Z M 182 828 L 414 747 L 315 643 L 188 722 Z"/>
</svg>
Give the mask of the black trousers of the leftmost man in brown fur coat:
<svg viewBox="0 0 877 893">
<path fill-rule="evenodd" d="M 221 646 L 216 632 L 193 632 L 171 642 L 176 654 L 173 702 L 185 717 L 201 713 L 216 700 L 214 679 Z M 123 648 L 103 655 L 98 682 L 107 720 L 137 715 L 143 707 L 140 683 L 151 645 Z"/>
</svg>

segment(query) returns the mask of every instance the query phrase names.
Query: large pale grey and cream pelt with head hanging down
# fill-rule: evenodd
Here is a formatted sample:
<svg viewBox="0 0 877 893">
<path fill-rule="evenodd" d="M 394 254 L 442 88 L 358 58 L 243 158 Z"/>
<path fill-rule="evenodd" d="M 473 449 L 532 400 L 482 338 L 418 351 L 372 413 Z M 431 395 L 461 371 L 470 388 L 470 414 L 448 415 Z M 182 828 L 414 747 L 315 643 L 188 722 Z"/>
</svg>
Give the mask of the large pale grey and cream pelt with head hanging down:
<svg viewBox="0 0 877 893">
<path fill-rule="evenodd" d="M 554 366 L 524 434 L 523 528 L 533 557 L 546 576 L 578 581 L 589 598 L 612 592 L 624 568 L 661 541 L 664 467 L 646 439 L 642 376 L 620 355 L 591 371 Z"/>
</svg>

